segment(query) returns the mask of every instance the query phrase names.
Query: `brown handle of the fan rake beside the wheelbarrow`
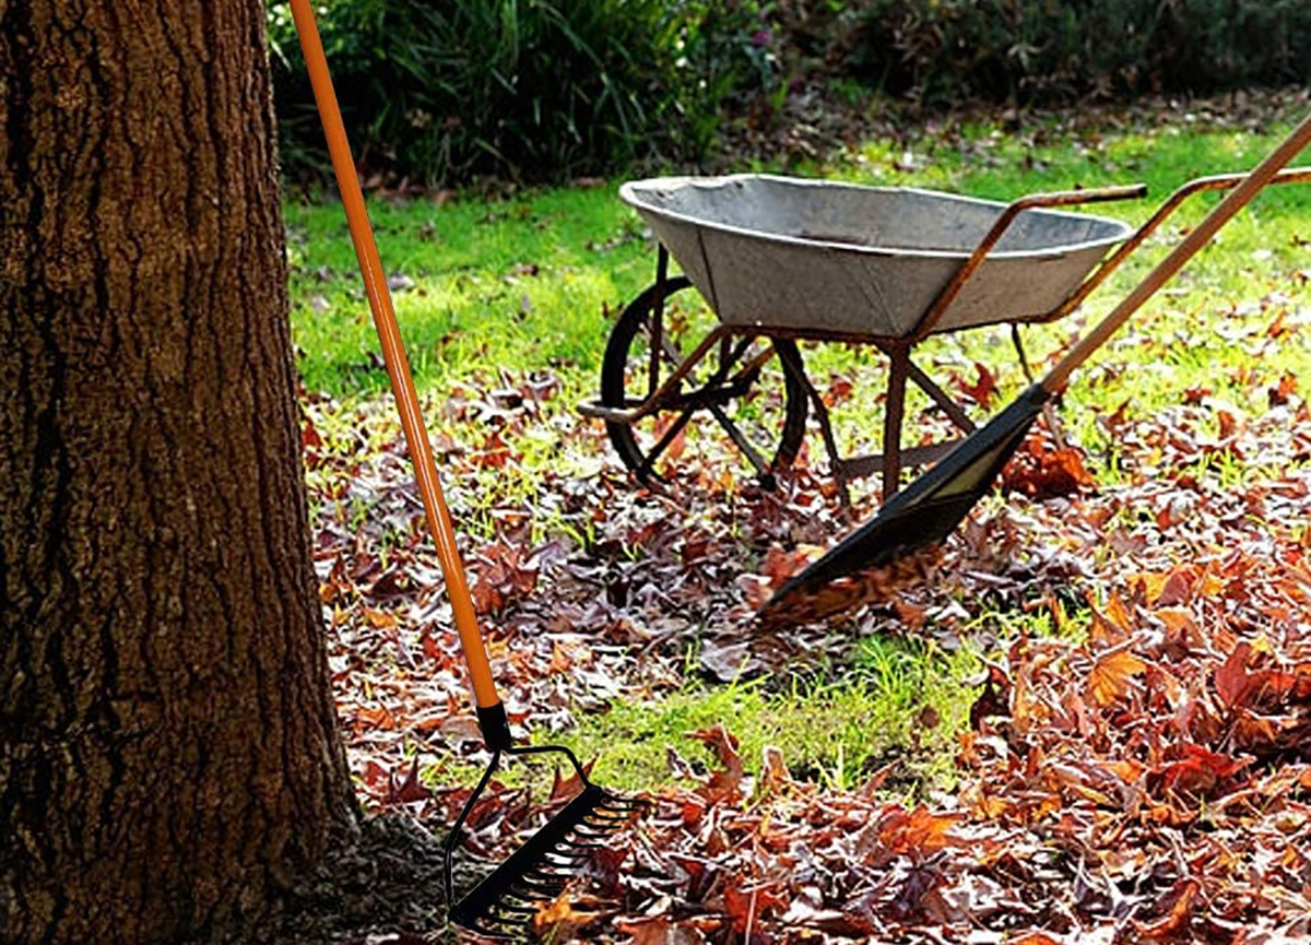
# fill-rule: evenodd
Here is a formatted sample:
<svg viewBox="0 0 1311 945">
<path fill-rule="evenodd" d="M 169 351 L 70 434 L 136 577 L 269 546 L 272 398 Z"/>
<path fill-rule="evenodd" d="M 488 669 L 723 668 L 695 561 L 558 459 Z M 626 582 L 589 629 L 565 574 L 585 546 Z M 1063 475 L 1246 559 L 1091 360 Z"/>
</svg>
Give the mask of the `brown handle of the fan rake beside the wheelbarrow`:
<svg viewBox="0 0 1311 945">
<path fill-rule="evenodd" d="M 1184 241 L 1180 242 L 1175 249 L 1169 252 L 1164 260 L 1156 263 L 1156 267 L 1148 273 L 1142 282 L 1127 295 L 1125 299 L 1112 309 L 1110 315 L 1103 318 L 1096 328 L 1088 332 L 1078 343 L 1066 354 L 1061 362 L 1053 367 L 1047 375 L 1038 381 L 1041 387 L 1049 393 L 1058 393 L 1070 379 L 1070 375 L 1076 367 L 1079 367 L 1088 357 L 1101 347 L 1106 339 L 1124 325 L 1129 317 L 1138 311 L 1138 308 L 1147 301 L 1156 291 L 1165 284 L 1184 263 L 1188 262 L 1202 246 L 1211 241 L 1217 231 L 1228 223 L 1239 210 L 1242 210 L 1247 203 L 1265 187 L 1276 174 L 1311 142 L 1311 114 L 1302 119 L 1283 142 L 1266 156 L 1251 173 L 1240 177 L 1240 182 L 1234 186 L 1230 193 L 1215 204 L 1215 208 L 1206 215 L 1206 218 L 1198 223 Z M 1206 178 L 1203 178 L 1206 180 Z M 1215 180 L 1215 178 L 1211 178 Z M 1185 189 L 1189 185 L 1185 185 Z M 1198 189 L 1218 189 L 1211 185 L 1202 185 Z"/>
</svg>

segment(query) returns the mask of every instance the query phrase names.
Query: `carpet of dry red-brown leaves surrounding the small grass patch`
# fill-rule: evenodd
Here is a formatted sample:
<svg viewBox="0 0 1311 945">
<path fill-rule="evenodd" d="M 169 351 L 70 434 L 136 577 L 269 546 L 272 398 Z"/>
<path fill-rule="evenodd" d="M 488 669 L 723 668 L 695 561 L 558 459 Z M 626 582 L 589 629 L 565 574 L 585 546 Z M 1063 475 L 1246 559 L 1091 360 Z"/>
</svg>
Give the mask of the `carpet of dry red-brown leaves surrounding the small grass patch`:
<svg viewBox="0 0 1311 945">
<path fill-rule="evenodd" d="M 941 550 L 856 582 L 840 621 L 785 633 L 750 613 L 847 527 L 822 469 L 802 459 L 770 493 L 737 481 L 725 453 L 644 490 L 602 431 L 552 404 L 549 376 L 438 405 L 485 431 L 437 448 L 456 519 L 482 530 L 463 530 L 461 550 L 511 721 L 535 737 L 680 685 L 692 638 L 697 670 L 730 679 L 840 663 L 880 629 L 949 637 L 983 599 L 1057 628 L 971 641 L 994 655 L 957 746 L 960 788 L 932 807 L 889 802 L 882 773 L 832 793 L 776 750 L 742 759 L 730 731 L 691 733 L 717 769 L 696 773 L 673 746 L 680 786 L 648 798 L 539 931 L 638 945 L 1311 937 L 1311 412 L 1297 380 L 1252 415 L 1209 391 L 1104 415 L 1130 477 L 1117 488 L 1040 436 L 1007 495 Z M 443 765 L 485 755 L 388 405 L 351 408 L 358 439 L 325 444 L 340 410 L 311 400 L 305 426 L 338 709 L 366 803 L 439 832 L 468 797 L 440 786 Z M 513 467 L 515 443 L 544 429 L 582 459 L 488 507 L 479 472 Z M 1235 485 L 1201 457 L 1253 472 Z M 421 777 L 418 759 L 437 767 Z M 573 789 L 493 790 L 465 849 L 503 856 Z"/>
</svg>

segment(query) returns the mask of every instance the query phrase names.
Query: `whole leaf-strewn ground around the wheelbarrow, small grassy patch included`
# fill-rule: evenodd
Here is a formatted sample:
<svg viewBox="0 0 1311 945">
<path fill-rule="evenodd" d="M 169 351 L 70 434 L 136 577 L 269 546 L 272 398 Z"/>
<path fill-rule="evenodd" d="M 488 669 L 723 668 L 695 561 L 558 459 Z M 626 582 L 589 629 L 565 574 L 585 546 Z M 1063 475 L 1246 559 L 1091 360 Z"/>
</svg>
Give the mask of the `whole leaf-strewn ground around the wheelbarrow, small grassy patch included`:
<svg viewBox="0 0 1311 945">
<path fill-rule="evenodd" d="M 832 595 L 783 624 L 751 616 L 877 505 L 857 493 L 844 518 L 814 430 L 777 492 L 713 436 L 690 436 L 667 482 L 641 489 L 573 413 L 568 367 L 489 367 L 433 391 L 434 447 L 517 733 L 574 746 L 603 784 L 650 801 L 538 916 L 539 933 L 1307 940 L 1311 260 L 1298 240 L 1311 227 L 1297 225 L 1247 250 L 1219 292 L 1198 277 L 1154 303 L 1076 375 L 1068 451 L 1040 429 L 941 549 L 847 582 L 829 619 Z M 868 409 L 853 392 L 877 389 L 877 363 L 825 357 L 835 408 Z M 979 415 L 1017 389 L 975 349 L 932 349 L 926 363 Z M 391 410 L 305 396 L 315 556 L 364 803 L 442 835 L 486 755 Z M 907 442 L 941 430 L 927 410 L 909 419 Z M 869 654 L 885 641 L 933 654 L 920 672 L 950 671 L 903 680 L 905 730 L 834 773 L 815 744 L 843 726 L 832 713 L 853 704 L 848 688 L 874 685 Z M 728 693 L 714 705 L 730 708 L 659 729 L 661 771 L 642 784 L 645 748 L 612 720 L 690 692 Z M 788 717 L 747 718 L 742 704 Z M 836 738 L 838 758 L 867 735 Z M 461 882 L 572 786 L 549 768 L 507 769 L 473 811 Z M 426 843 L 408 856 L 431 855 Z M 430 895 L 431 912 L 391 928 L 435 933 Z"/>
</svg>

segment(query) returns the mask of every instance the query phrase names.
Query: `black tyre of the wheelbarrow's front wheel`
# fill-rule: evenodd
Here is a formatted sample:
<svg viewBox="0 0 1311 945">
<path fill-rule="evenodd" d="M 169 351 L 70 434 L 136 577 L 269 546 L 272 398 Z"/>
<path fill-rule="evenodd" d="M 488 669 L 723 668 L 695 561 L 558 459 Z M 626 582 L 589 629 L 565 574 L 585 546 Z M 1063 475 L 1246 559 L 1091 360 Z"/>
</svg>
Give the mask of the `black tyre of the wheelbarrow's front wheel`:
<svg viewBox="0 0 1311 945">
<path fill-rule="evenodd" d="M 665 283 L 665 298 L 669 299 L 676 292 L 687 290 L 691 284 L 684 275 L 674 277 Z M 646 325 L 656 307 L 656 292 L 657 286 L 649 286 L 641 295 L 633 299 L 620 313 L 619 320 L 610 332 L 610 339 L 606 342 L 606 357 L 600 364 L 600 402 L 604 406 L 624 406 L 624 375 L 628 368 L 628 353 L 633 345 L 633 339 Z M 792 349 L 792 351 L 796 351 L 796 342 L 793 341 L 777 339 L 772 343 L 775 349 Z M 794 358 L 794 363 L 800 363 L 800 355 Z M 809 405 L 806 402 L 805 388 L 789 371 L 784 371 L 784 423 L 779 446 L 770 463 L 771 469 L 785 469 L 792 465 L 792 461 L 801 451 L 801 443 L 806 435 L 806 413 Z M 633 429 L 627 423 L 606 421 L 606 431 L 610 434 L 610 442 L 614 444 L 615 452 L 624 461 L 624 465 L 641 477 L 640 471 L 646 460 L 646 453 L 633 435 Z M 653 472 L 649 476 L 658 478 Z M 772 488 L 772 478 L 771 474 L 762 476 L 762 485 Z"/>
</svg>

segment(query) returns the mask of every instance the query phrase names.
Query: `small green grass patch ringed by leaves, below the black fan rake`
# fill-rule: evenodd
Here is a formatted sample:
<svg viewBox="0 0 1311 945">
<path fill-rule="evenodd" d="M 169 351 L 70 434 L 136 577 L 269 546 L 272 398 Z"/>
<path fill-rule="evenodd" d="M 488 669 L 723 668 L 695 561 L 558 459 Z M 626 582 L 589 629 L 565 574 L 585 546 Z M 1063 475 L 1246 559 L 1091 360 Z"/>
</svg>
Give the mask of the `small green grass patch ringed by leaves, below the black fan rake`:
<svg viewBox="0 0 1311 945">
<path fill-rule="evenodd" d="M 597 777 L 627 790 L 678 782 L 686 763 L 717 762 L 688 733 L 724 725 L 749 775 L 767 747 L 798 780 L 834 790 L 877 786 L 907 798 L 953 784 L 950 750 L 969 720 L 979 668 L 970 650 L 869 638 L 850 666 L 805 678 L 758 678 L 726 685 L 688 682 L 665 699 L 614 704 L 579 720 L 576 751 L 597 756 Z"/>
</svg>

